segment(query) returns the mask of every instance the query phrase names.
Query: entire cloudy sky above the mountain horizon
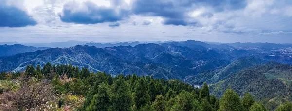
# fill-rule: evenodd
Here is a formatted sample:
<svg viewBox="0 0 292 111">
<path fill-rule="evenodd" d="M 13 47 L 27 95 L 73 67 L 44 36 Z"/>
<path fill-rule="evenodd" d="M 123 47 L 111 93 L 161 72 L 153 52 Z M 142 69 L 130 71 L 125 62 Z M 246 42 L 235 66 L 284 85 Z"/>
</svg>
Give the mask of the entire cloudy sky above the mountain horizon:
<svg viewBox="0 0 292 111">
<path fill-rule="evenodd" d="M 0 42 L 292 43 L 292 0 L 0 0 Z"/>
</svg>

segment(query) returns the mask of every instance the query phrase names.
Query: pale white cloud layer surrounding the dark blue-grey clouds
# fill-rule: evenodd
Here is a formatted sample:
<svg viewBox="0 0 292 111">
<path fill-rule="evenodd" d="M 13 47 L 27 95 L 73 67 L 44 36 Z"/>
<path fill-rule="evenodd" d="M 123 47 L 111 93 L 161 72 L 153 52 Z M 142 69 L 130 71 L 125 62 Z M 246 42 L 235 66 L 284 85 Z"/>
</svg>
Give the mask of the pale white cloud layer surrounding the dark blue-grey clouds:
<svg viewBox="0 0 292 111">
<path fill-rule="evenodd" d="M 100 7 L 131 9 L 135 0 L 124 0 L 123 2 L 120 0 L 18 0 L 17 2 L 9 0 L 10 5 L 18 6 L 32 15 L 38 25 L 23 28 L 0 28 L 0 41 L 9 41 L 11 39 L 9 37 L 18 37 L 18 39 L 11 40 L 29 42 L 32 40 L 31 37 L 34 37 L 35 40 L 38 36 L 42 36 L 50 38 L 51 41 L 71 39 L 94 41 L 99 39 L 104 42 L 186 39 L 235 42 L 244 41 L 243 38 L 249 38 L 247 40 L 252 41 L 253 37 L 257 37 L 261 39 L 254 40 L 261 42 L 261 40 L 265 40 L 263 36 L 281 38 L 280 36 L 292 35 L 292 2 L 290 0 L 246 0 L 246 5 L 238 9 L 229 9 L 227 4 L 218 7 L 217 5 L 222 4 L 185 4 L 183 1 L 186 0 L 182 2 L 170 0 L 175 4 L 169 12 L 183 13 L 179 15 L 183 15 L 179 19 L 186 22 L 187 26 L 164 25 L 165 15 L 144 16 L 132 13 L 126 19 L 113 22 L 121 24 L 116 28 L 110 28 L 111 23 L 83 25 L 64 23 L 60 20 L 58 15 L 62 12 L 65 3 L 78 4 L 86 1 L 94 2 Z M 161 1 L 165 3 L 168 0 Z M 72 9 L 78 11 L 88 11 L 87 7 L 82 7 L 82 5 L 71 6 Z M 267 41 L 274 40 L 273 37 L 267 37 L 269 38 Z M 39 37 L 37 41 L 47 41 L 47 39 Z"/>
</svg>

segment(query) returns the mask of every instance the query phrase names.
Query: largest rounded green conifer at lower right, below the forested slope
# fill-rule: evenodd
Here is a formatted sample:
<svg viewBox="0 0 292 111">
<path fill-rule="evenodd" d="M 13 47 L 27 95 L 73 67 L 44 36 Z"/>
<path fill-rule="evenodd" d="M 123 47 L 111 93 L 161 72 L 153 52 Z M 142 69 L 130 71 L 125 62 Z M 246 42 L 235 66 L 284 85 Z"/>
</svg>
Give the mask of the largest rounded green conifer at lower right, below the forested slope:
<svg viewBox="0 0 292 111">
<path fill-rule="evenodd" d="M 220 100 L 218 111 L 243 111 L 239 95 L 227 89 Z"/>
</svg>

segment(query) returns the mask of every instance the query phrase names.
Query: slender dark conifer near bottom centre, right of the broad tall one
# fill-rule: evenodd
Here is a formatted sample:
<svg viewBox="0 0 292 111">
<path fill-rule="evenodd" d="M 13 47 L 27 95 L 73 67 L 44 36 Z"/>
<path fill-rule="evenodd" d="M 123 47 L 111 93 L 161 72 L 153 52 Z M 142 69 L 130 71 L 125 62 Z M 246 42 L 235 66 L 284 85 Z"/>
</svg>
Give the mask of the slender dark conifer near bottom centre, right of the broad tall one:
<svg viewBox="0 0 292 111">
<path fill-rule="evenodd" d="M 150 97 L 144 79 L 138 79 L 134 91 L 134 101 L 137 109 L 150 104 Z"/>
</svg>

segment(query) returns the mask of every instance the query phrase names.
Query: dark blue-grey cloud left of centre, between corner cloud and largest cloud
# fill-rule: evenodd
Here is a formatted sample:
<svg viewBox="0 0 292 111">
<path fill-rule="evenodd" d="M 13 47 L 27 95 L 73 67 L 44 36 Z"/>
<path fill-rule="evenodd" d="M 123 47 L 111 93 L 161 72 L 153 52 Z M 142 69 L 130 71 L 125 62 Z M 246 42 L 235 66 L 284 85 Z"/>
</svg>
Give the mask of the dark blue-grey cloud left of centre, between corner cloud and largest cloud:
<svg viewBox="0 0 292 111">
<path fill-rule="evenodd" d="M 72 6 L 73 5 L 73 6 Z M 104 22 L 116 22 L 128 16 L 126 10 L 115 10 L 109 7 L 99 7 L 92 2 L 84 3 L 86 10 L 78 10 L 76 3 L 67 3 L 64 5 L 60 18 L 63 22 L 73 22 L 79 24 L 95 24 Z"/>
</svg>

